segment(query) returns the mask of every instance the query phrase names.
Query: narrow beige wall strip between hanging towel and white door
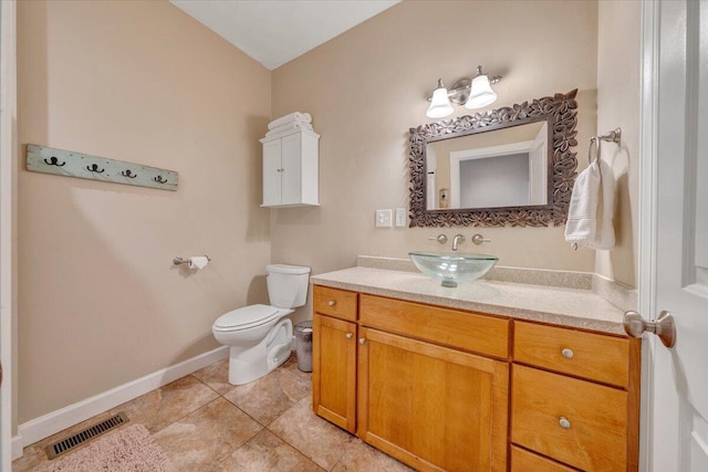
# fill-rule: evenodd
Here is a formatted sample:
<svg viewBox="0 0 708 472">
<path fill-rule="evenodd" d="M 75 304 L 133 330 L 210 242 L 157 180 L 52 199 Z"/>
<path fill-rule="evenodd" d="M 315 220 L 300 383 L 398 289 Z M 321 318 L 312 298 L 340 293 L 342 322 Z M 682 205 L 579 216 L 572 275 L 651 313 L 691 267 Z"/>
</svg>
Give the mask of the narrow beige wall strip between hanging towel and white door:
<svg viewBox="0 0 708 472">
<path fill-rule="evenodd" d="M 622 145 L 607 144 L 603 159 L 617 181 L 617 245 L 597 251 L 595 271 L 637 286 L 639 214 L 639 106 L 642 4 L 601 1 L 597 33 L 597 132 L 622 128 Z"/>
</svg>

